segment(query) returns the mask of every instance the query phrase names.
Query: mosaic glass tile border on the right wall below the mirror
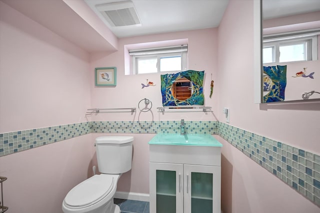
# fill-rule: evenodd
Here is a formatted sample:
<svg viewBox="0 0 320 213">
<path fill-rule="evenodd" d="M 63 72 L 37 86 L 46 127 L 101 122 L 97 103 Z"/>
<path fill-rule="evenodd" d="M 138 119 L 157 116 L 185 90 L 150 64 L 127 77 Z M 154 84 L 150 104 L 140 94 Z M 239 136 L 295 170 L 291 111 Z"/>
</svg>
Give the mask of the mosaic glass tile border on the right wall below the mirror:
<svg viewBox="0 0 320 213">
<path fill-rule="evenodd" d="M 320 156 L 219 122 L 218 135 L 320 207 Z"/>
</svg>

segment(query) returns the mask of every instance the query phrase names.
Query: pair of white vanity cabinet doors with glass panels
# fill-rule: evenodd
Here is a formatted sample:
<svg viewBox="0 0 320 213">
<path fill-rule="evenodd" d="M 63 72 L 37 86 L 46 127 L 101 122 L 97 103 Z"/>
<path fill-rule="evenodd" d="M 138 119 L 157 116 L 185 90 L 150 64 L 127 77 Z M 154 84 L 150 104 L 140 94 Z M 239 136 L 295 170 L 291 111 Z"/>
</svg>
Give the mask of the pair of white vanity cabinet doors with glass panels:
<svg viewBox="0 0 320 213">
<path fill-rule="evenodd" d="M 219 213 L 220 167 L 150 163 L 151 213 Z"/>
</svg>

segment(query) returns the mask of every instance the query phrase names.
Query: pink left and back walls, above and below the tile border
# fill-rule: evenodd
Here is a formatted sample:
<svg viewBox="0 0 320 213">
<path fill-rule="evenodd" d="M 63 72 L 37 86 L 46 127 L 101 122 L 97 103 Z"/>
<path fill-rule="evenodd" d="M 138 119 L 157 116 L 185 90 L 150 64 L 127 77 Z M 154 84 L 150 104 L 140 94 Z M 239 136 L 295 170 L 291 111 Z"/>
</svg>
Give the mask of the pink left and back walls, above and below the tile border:
<svg viewBox="0 0 320 213">
<path fill-rule="evenodd" d="M 123 45 L 187 38 L 189 69 L 205 70 L 206 105 L 216 108 L 217 86 L 212 99 L 208 98 L 211 73 L 213 79 L 217 77 L 216 29 L 123 38 L 119 41 L 118 52 L 93 54 L 89 63 L 89 55 L 85 51 L 2 1 L 0 3 L 1 133 L 87 120 L 215 120 L 212 113 L 159 115 L 156 112 L 156 107 L 161 106 L 159 75 L 124 76 Z M 94 67 L 101 66 L 117 67 L 116 87 L 94 87 Z M 157 86 L 141 90 L 140 83 L 146 78 Z M 122 99 L 119 98 L 121 95 Z M 137 107 L 138 101 L 144 97 L 153 102 L 152 111 L 148 113 L 84 116 L 86 109 L 91 107 Z M 65 194 L 91 175 L 91 167 L 96 165 L 92 144 L 99 135 L 76 137 L 1 157 L 0 174 L 8 178 L 4 185 L 4 202 L 10 207 L 9 211 L 59 212 Z M 148 193 L 147 142 L 152 136 L 134 135 L 132 170 L 121 177 L 118 191 Z M 15 197 L 17 193 L 20 195 Z M 32 197 L 27 197 L 27 194 Z M 19 205 L 15 198 L 21 201 Z"/>
</svg>

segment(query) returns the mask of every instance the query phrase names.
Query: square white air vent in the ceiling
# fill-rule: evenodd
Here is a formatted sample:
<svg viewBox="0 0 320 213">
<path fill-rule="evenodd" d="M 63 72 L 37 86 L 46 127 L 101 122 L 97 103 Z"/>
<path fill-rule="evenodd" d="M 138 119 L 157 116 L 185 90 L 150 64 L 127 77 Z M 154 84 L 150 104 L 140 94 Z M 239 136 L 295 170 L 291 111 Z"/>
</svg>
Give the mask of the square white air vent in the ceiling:
<svg viewBox="0 0 320 213">
<path fill-rule="evenodd" d="M 95 5 L 111 26 L 141 25 L 130 0 Z"/>
</svg>

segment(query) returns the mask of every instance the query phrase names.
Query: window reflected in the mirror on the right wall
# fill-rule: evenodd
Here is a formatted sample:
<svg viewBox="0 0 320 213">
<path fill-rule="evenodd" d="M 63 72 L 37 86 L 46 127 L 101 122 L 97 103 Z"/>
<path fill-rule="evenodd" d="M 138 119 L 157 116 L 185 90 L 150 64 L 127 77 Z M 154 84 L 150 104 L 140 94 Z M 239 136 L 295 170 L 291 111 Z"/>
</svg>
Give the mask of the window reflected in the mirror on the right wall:
<svg viewBox="0 0 320 213">
<path fill-rule="evenodd" d="M 264 36 L 262 63 L 317 60 L 317 34 L 291 32 Z"/>
</svg>

